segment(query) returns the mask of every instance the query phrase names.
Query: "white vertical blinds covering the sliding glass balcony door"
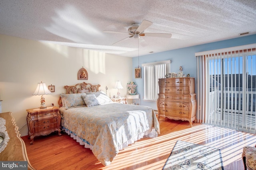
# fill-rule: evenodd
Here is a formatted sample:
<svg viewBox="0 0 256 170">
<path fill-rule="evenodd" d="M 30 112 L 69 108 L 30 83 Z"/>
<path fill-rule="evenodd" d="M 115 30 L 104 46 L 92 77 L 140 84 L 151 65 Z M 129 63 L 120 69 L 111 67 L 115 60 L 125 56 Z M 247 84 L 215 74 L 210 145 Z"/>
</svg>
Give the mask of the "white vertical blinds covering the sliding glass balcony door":
<svg viewBox="0 0 256 170">
<path fill-rule="evenodd" d="M 255 47 L 196 53 L 199 122 L 256 132 Z"/>
</svg>

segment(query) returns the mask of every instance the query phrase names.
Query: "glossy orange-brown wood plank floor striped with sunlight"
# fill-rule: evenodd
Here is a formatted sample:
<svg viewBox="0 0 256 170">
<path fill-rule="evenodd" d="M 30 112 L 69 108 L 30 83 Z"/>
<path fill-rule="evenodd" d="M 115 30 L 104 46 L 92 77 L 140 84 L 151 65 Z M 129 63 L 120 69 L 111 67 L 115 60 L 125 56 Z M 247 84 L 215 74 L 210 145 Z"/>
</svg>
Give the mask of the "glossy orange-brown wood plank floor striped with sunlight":
<svg viewBox="0 0 256 170">
<path fill-rule="evenodd" d="M 30 163 L 37 170 L 161 170 L 177 140 L 221 149 L 225 170 L 243 170 L 242 150 L 254 146 L 256 135 L 160 117 L 161 135 L 136 141 L 120 150 L 109 166 L 103 166 L 90 149 L 76 143 L 66 133 L 36 137 L 33 145 L 27 136 Z"/>
</svg>

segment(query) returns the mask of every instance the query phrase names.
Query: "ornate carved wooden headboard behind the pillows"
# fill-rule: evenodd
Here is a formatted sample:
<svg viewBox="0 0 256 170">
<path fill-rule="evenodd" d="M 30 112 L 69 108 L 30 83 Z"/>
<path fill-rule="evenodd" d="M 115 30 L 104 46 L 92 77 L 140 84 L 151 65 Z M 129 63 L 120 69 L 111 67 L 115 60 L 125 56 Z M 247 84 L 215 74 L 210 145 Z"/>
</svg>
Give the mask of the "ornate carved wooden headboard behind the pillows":
<svg viewBox="0 0 256 170">
<path fill-rule="evenodd" d="M 92 85 L 90 83 L 82 82 L 74 86 L 64 86 L 64 88 L 67 90 L 66 94 L 98 92 L 100 88 L 100 84 Z M 62 107 L 61 98 L 59 98 L 58 104 L 60 107 Z"/>
</svg>

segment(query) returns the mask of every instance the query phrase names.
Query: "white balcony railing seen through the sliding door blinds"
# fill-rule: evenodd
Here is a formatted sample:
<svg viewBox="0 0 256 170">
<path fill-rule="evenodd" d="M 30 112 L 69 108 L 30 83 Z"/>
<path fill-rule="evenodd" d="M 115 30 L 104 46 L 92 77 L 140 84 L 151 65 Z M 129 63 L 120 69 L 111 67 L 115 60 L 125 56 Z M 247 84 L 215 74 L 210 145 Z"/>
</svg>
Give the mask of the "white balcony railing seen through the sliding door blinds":
<svg viewBox="0 0 256 170">
<path fill-rule="evenodd" d="M 207 122 L 250 133 L 256 133 L 256 91 L 216 88 L 209 93 Z M 221 100 L 222 99 L 222 100 Z M 245 103 L 244 103 L 245 101 Z"/>
</svg>

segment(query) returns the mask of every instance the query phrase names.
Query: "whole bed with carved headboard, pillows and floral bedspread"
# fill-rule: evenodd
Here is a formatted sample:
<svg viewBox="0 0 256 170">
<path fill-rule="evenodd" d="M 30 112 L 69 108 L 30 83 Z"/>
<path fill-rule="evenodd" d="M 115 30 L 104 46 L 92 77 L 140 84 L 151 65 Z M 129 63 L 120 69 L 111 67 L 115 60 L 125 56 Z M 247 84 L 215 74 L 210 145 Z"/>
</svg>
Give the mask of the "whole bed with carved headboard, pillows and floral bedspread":
<svg viewBox="0 0 256 170">
<path fill-rule="evenodd" d="M 64 86 L 58 103 L 62 129 L 108 166 L 119 150 L 157 137 L 160 127 L 151 107 L 112 102 L 99 87 L 85 82 Z"/>
</svg>

